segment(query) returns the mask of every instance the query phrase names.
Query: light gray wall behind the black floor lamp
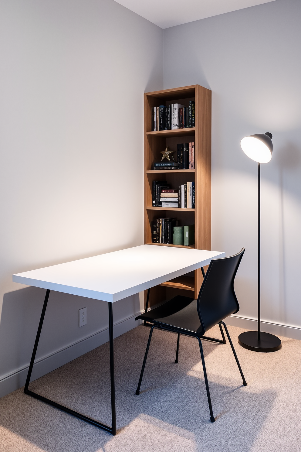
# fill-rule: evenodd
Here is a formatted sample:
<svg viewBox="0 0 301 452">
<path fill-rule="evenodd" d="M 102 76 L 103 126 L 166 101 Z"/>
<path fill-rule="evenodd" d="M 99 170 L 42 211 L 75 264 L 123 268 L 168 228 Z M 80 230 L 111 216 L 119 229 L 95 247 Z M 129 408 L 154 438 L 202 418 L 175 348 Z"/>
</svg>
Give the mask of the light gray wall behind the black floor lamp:
<svg viewBox="0 0 301 452">
<path fill-rule="evenodd" d="M 300 0 L 277 0 L 164 30 L 164 88 L 212 89 L 212 249 L 246 248 L 236 278 L 246 318 L 257 315 L 257 164 L 240 140 L 273 134 L 273 159 L 261 165 L 262 318 L 298 328 L 300 18 Z"/>
</svg>

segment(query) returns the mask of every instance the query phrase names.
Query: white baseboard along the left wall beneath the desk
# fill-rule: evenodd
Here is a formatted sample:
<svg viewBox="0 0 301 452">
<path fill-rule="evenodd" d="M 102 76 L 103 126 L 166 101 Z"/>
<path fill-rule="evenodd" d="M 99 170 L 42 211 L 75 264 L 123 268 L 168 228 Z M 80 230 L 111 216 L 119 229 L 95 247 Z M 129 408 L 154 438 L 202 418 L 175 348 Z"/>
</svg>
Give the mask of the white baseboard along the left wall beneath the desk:
<svg viewBox="0 0 301 452">
<path fill-rule="evenodd" d="M 132 330 L 137 325 L 142 323 L 142 320 L 135 321 L 135 317 L 140 314 L 140 311 L 137 314 L 128 317 L 127 319 L 121 320 L 120 322 L 114 325 L 114 337 L 120 336 L 121 334 L 126 333 L 127 331 Z M 101 331 L 98 331 L 91 336 L 88 336 L 85 339 L 76 342 L 75 344 L 69 345 L 61 350 L 58 350 L 55 353 L 51 353 L 51 355 L 43 357 L 34 364 L 32 369 L 32 380 L 36 380 L 39 377 L 42 377 L 48 372 L 51 372 L 57 369 L 60 366 L 63 366 L 66 363 L 69 363 L 75 358 L 79 358 L 79 356 L 84 353 L 88 353 L 93 348 L 99 347 L 102 344 L 105 344 L 109 340 L 109 329 L 105 328 Z M 10 372 L 8 375 L 5 375 L 0 380 L 0 397 L 3 397 L 6 394 L 9 394 L 16 389 L 24 386 L 27 372 L 28 372 L 29 363 L 27 366 L 16 369 L 14 372 Z"/>
</svg>

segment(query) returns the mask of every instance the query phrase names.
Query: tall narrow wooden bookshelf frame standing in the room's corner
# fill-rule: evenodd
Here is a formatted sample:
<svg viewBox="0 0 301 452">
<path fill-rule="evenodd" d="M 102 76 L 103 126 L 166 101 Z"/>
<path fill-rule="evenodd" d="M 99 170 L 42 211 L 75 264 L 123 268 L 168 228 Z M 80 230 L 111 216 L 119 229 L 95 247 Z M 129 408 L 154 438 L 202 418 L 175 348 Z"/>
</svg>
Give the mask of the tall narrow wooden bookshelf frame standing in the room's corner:
<svg viewBox="0 0 301 452">
<path fill-rule="evenodd" d="M 195 127 L 152 131 L 153 107 L 174 103 L 188 106 L 190 100 L 195 102 Z M 166 146 L 176 151 L 177 143 L 189 141 L 194 141 L 194 170 L 153 170 L 154 162 L 161 160 L 160 151 L 164 151 Z M 195 208 L 153 207 L 153 180 L 167 180 L 172 188 L 194 181 Z M 151 222 L 156 218 L 167 217 L 171 211 L 180 226 L 195 225 L 194 245 L 187 247 L 152 243 Z M 211 250 L 211 91 L 203 86 L 144 93 L 144 243 Z M 199 269 L 153 287 L 150 306 L 176 294 L 197 298 L 202 281 Z"/>
</svg>

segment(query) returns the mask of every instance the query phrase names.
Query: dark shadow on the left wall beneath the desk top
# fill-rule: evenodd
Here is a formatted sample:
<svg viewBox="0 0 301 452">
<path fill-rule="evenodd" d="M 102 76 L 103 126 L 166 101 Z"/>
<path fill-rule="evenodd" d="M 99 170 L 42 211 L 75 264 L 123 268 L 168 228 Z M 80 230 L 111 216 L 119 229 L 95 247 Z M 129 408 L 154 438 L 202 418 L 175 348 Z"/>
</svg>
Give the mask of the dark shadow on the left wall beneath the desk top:
<svg viewBox="0 0 301 452">
<path fill-rule="evenodd" d="M 0 323 L 0 380 L 28 366 L 45 294 L 45 289 L 26 287 L 4 295 Z M 83 307 L 87 308 L 87 325 L 79 327 L 79 309 Z M 114 324 L 126 320 L 137 312 L 140 312 L 139 294 L 116 301 L 113 303 Z M 56 361 L 56 358 L 59 359 L 57 352 L 68 349 L 70 354 L 71 345 L 79 342 L 83 344 L 82 341 L 90 337 L 96 338 L 98 332 L 106 331 L 107 328 L 106 301 L 51 291 L 36 359 L 53 356 Z M 102 334 L 103 339 L 102 337 L 97 339 L 102 341 L 101 344 L 107 340 L 106 334 L 106 332 Z M 98 342 L 96 346 L 100 343 Z M 88 350 L 82 353 L 86 351 Z M 74 358 L 72 353 L 70 359 Z M 79 354 L 81 353 L 79 352 L 77 356 Z M 68 362 L 68 359 L 65 362 Z M 62 364 L 65 363 L 58 361 L 58 365 Z M 54 363 L 52 369 L 55 367 L 57 366 Z M 22 380 L 23 374 L 18 375 Z M 20 385 L 22 384 L 23 380 L 20 381 Z"/>
</svg>

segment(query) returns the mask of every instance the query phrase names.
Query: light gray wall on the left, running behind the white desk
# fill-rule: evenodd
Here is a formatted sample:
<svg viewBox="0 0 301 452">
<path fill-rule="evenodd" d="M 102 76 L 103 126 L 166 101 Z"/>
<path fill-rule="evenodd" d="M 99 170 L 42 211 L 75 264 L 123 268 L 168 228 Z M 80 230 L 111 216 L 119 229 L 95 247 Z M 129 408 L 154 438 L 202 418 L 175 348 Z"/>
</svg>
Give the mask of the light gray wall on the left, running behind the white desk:
<svg viewBox="0 0 301 452">
<path fill-rule="evenodd" d="M 45 294 L 12 274 L 143 243 L 143 93 L 163 87 L 162 40 L 111 0 L 0 2 L 1 394 L 23 382 Z M 139 311 L 137 295 L 113 314 Z M 84 353 L 106 328 L 107 303 L 52 292 L 37 358 L 97 337 Z"/>
</svg>

